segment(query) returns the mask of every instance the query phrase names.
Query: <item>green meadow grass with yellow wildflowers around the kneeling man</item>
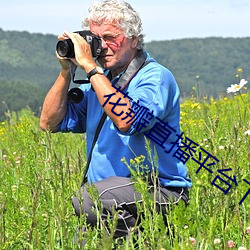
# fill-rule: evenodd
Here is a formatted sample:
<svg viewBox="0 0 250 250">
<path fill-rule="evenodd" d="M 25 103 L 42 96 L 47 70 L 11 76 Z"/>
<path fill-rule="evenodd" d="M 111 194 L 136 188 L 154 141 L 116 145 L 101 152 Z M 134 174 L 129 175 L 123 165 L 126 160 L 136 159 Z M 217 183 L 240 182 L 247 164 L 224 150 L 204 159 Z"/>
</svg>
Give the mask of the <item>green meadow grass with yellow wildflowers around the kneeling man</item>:
<svg viewBox="0 0 250 250">
<path fill-rule="evenodd" d="M 135 228 L 119 245 L 100 229 L 86 233 L 86 249 L 228 249 L 233 240 L 235 249 L 250 249 L 250 95 L 219 100 L 190 98 L 181 104 L 181 127 L 185 137 L 192 139 L 219 162 L 213 173 L 189 159 L 187 166 L 193 181 L 191 201 L 170 209 L 167 227 L 154 209 L 143 184 L 138 189 L 144 202 L 143 230 Z M 198 152 L 194 155 L 198 158 Z M 81 184 L 85 166 L 85 140 L 80 134 L 49 134 L 39 130 L 38 118 L 28 109 L 7 113 L 0 124 L 0 249 L 80 249 L 74 241 L 76 227 L 85 225 L 74 216 L 71 197 Z M 133 159 L 131 166 L 143 164 Z M 218 169 L 233 180 L 218 173 Z M 136 172 L 134 173 L 135 178 Z M 225 195 L 211 182 L 220 176 L 232 185 Z M 228 185 L 217 179 L 217 185 Z M 101 205 L 97 200 L 97 208 Z M 107 222 L 111 234 L 116 221 Z M 220 239 L 215 244 L 214 240 Z M 135 244 L 136 243 L 136 244 Z"/>
</svg>

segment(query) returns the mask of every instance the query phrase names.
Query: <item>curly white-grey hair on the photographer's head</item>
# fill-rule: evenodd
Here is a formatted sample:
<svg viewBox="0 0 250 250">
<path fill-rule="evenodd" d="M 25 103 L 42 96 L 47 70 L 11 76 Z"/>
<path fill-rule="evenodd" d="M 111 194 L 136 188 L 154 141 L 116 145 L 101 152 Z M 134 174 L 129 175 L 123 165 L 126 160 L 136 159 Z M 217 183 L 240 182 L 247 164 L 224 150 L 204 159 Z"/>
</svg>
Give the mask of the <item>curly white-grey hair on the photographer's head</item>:
<svg viewBox="0 0 250 250">
<path fill-rule="evenodd" d="M 125 32 L 126 37 L 137 37 L 137 49 L 143 49 L 144 35 L 141 18 L 129 3 L 121 0 L 96 2 L 90 6 L 89 15 L 83 19 L 82 26 L 89 28 L 90 20 L 101 24 L 104 19 L 117 24 Z"/>
</svg>

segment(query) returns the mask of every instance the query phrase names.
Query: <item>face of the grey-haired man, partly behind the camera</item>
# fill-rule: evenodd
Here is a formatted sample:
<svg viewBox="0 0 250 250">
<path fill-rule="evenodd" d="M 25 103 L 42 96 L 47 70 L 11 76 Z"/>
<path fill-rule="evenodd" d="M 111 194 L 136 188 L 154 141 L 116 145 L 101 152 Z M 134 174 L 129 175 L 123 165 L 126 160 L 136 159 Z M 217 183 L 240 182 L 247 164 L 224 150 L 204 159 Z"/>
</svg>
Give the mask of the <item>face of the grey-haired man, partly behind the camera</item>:
<svg viewBox="0 0 250 250">
<path fill-rule="evenodd" d="M 137 39 L 125 37 L 118 25 L 105 21 L 101 25 L 90 21 L 90 30 L 102 39 L 101 66 L 118 73 L 126 68 L 135 55 Z"/>
</svg>

